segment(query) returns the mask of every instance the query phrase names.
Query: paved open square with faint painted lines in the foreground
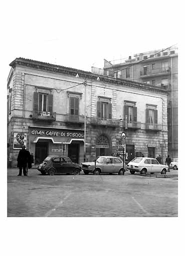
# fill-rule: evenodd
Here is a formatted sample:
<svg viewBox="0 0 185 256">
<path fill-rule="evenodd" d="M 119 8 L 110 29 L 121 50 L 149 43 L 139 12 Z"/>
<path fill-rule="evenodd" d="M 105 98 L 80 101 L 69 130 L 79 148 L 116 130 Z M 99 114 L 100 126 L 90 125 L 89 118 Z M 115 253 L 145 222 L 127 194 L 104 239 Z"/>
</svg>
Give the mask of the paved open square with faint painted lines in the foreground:
<svg viewBox="0 0 185 256">
<path fill-rule="evenodd" d="M 171 171 L 177 174 L 178 171 Z M 8 169 L 9 217 L 173 217 L 176 179 L 131 175 L 17 176 Z"/>
</svg>

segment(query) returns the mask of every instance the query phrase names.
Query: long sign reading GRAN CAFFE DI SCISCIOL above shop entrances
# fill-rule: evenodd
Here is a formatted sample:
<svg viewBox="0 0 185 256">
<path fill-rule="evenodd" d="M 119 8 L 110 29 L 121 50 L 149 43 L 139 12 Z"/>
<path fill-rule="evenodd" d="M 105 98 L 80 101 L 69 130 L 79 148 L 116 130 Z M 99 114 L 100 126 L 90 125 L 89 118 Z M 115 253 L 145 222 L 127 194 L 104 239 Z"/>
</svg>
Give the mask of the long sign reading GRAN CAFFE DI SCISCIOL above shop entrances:
<svg viewBox="0 0 185 256">
<path fill-rule="evenodd" d="M 32 135 L 84 138 L 84 133 L 32 130 Z"/>
</svg>

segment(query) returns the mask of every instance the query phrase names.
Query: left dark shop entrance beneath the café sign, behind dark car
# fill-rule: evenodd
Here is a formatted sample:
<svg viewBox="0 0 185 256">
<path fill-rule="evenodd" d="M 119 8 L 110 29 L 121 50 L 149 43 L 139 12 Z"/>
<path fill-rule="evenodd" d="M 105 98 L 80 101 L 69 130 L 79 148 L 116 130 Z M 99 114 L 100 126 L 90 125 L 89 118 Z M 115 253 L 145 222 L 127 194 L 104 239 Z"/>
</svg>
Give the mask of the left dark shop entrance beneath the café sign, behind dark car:
<svg viewBox="0 0 185 256">
<path fill-rule="evenodd" d="M 35 146 L 35 164 L 40 164 L 48 156 L 48 142 L 37 142 Z"/>
</svg>

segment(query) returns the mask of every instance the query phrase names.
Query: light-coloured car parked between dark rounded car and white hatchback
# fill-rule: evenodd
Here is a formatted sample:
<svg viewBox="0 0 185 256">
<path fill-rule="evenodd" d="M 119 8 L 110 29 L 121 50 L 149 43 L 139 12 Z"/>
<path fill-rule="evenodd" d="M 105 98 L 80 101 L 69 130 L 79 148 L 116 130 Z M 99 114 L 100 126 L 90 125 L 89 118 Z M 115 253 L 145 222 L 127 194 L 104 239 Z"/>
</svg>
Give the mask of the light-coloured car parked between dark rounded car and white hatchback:
<svg viewBox="0 0 185 256">
<path fill-rule="evenodd" d="M 123 162 L 119 157 L 103 156 L 96 159 L 96 168 L 94 161 L 82 163 L 81 170 L 83 170 L 84 174 L 93 173 L 94 175 L 99 175 L 101 173 L 118 173 L 119 175 L 124 175 L 127 165 L 124 164 L 123 170 Z"/>
</svg>

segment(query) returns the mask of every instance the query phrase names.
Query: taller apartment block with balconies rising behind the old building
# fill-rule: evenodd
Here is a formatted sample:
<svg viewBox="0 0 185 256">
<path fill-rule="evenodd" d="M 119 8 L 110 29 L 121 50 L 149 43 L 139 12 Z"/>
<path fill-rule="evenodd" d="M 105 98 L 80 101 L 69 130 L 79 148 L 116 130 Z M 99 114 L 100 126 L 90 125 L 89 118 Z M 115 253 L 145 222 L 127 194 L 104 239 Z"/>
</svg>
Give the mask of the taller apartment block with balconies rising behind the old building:
<svg viewBox="0 0 185 256">
<path fill-rule="evenodd" d="M 168 116 L 168 153 L 178 157 L 178 51 L 177 47 L 135 54 L 128 59 L 104 60 L 92 72 L 165 88 Z"/>
</svg>

